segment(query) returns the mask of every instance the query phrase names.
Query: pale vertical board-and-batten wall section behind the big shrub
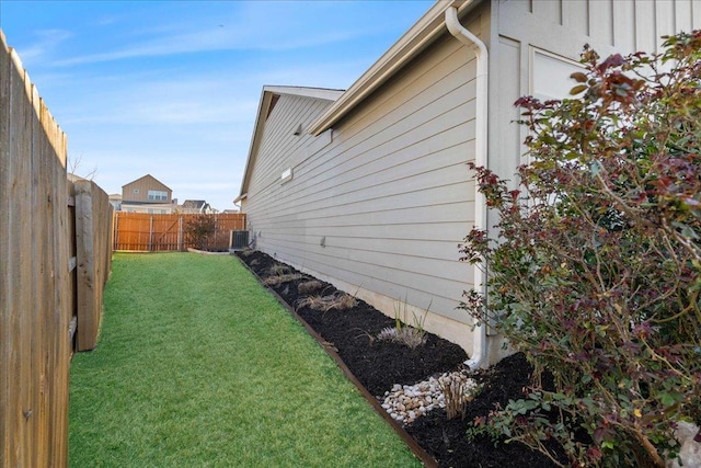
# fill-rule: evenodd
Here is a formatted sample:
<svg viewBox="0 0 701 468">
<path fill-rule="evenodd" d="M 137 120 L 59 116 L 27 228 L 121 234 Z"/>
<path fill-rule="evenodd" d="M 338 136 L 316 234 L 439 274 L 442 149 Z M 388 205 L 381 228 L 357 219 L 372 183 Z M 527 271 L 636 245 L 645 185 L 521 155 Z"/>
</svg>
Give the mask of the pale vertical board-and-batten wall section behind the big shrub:
<svg viewBox="0 0 701 468">
<path fill-rule="evenodd" d="M 585 44 L 601 57 L 660 52 L 662 35 L 701 27 L 701 1 L 492 0 L 492 24 L 490 167 L 508 178 L 525 162 L 526 129 L 515 123 L 519 111 L 513 104 L 538 92 L 539 58 L 575 62 Z M 562 89 L 563 79 L 553 76 L 553 88 Z"/>
</svg>

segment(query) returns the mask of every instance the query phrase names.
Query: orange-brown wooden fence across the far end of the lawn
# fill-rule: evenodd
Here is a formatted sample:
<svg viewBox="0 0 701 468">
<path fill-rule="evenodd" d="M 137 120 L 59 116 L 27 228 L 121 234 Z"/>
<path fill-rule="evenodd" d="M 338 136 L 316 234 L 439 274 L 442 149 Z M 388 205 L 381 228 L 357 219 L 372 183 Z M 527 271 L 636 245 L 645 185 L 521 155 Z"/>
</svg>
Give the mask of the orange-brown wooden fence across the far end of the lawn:
<svg viewBox="0 0 701 468">
<path fill-rule="evenodd" d="M 187 226 L 203 217 L 214 219 L 215 232 L 207 242 L 209 250 L 229 248 L 229 231 L 245 229 L 245 215 L 151 215 L 146 213 L 114 213 L 114 250 L 140 252 L 182 251 L 199 249 L 188 239 Z"/>
</svg>

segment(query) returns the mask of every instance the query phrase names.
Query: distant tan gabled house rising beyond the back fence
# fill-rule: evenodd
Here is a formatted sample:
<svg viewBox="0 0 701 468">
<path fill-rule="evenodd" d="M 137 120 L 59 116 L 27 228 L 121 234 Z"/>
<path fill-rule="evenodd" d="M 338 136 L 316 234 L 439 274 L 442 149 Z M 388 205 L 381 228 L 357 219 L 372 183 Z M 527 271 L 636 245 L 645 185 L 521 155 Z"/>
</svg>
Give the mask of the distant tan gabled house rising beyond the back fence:
<svg viewBox="0 0 701 468">
<path fill-rule="evenodd" d="M 151 174 L 122 186 L 122 210 L 131 213 L 173 213 L 173 191 Z"/>
</svg>

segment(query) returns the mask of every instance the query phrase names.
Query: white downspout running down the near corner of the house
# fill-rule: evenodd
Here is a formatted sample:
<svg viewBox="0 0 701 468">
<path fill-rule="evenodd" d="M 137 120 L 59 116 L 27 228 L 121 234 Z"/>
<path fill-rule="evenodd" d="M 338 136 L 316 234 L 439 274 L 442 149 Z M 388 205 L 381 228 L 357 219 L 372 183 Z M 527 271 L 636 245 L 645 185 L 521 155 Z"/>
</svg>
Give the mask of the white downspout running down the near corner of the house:
<svg viewBox="0 0 701 468">
<path fill-rule="evenodd" d="M 486 46 L 474 34 L 468 31 L 458 20 L 457 7 L 450 7 L 446 10 L 446 26 L 462 44 L 470 47 L 476 56 L 476 99 L 475 99 L 475 136 L 474 136 L 474 163 L 476 165 L 486 165 L 486 145 L 487 145 L 487 81 L 489 81 L 489 62 L 490 56 Z M 486 205 L 484 196 L 479 191 L 479 184 L 474 190 L 474 227 L 478 229 L 486 229 Z M 486 292 L 484 285 L 484 274 L 479 265 L 474 266 L 474 288 L 483 295 Z M 466 365 L 470 368 L 480 368 L 489 365 L 487 346 L 486 346 L 486 323 L 475 327 L 472 341 L 472 356 L 466 361 Z"/>
</svg>

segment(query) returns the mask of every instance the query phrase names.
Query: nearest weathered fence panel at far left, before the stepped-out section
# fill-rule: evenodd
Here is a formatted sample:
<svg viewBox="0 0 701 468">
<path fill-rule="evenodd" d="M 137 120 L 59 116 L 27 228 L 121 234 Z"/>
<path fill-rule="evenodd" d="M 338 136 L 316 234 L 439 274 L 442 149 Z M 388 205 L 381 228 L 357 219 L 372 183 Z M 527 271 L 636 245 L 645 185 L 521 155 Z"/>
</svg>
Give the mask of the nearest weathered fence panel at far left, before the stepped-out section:
<svg viewBox="0 0 701 468">
<path fill-rule="evenodd" d="M 1 38 L 0 463 L 61 466 L 71 352 L 59 292 L 68 277 L 65 136 Z"/>
</svg>

